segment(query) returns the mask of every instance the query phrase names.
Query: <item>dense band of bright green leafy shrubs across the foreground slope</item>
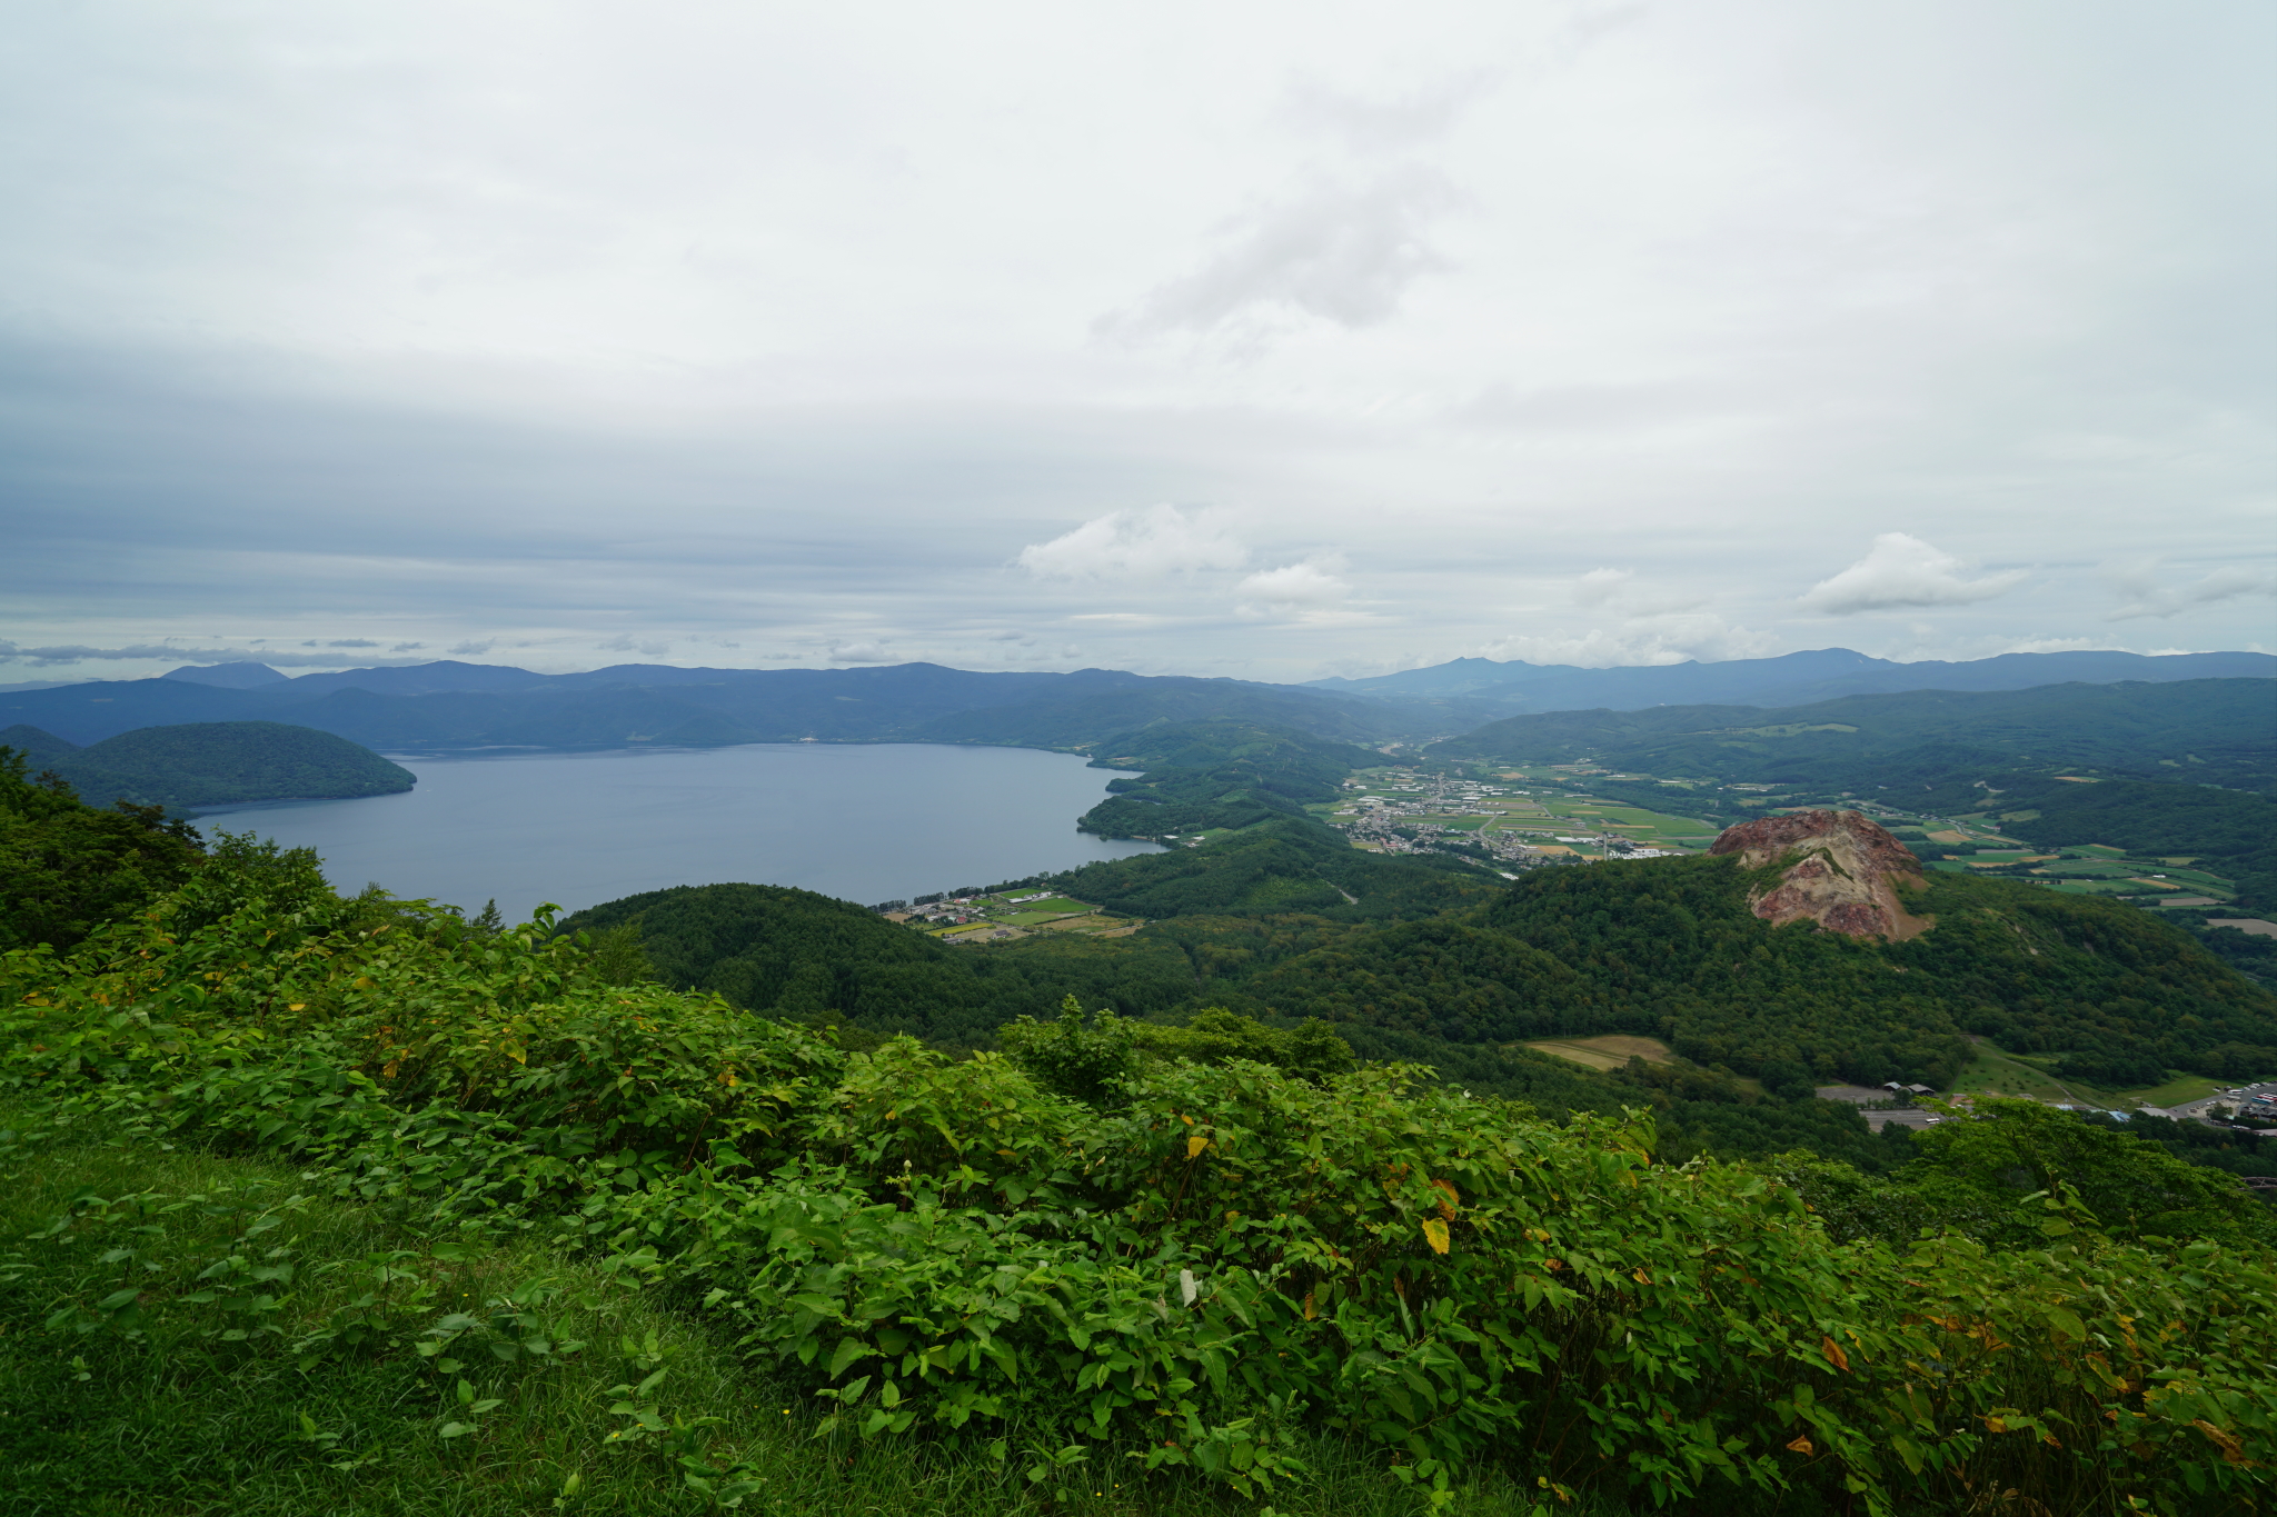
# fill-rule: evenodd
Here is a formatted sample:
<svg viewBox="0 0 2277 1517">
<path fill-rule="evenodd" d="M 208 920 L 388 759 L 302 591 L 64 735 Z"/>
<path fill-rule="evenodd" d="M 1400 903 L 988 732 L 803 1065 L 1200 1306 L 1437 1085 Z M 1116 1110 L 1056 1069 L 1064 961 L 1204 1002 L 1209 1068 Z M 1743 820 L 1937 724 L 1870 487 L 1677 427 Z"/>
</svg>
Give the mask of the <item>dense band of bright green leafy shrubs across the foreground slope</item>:
<svg viewBox="0 0 2277 1517">
<path fill-rule="evenodd" d="M 50 1110 L 597 1251 L 726 1315 L 829 1426 L 1038 1481 L 1125 1444 L 1255 1490 L 1327 1431 L 1432 1499 L 1496 1460 L 1653 1503 L 2179 1512 L 2247 1510 L 2277 1453 L 2270 1255 L 2113 1240 L 2063 1185 L 2038 1246 L 1892 1246 L 1753 1169 L 1655 1167 L 1642 1121 L 1412 1069 L 1150 1058 L 1086 1103 L 237 842 L 0 976 L 0 1071 Z"/>
</svg>

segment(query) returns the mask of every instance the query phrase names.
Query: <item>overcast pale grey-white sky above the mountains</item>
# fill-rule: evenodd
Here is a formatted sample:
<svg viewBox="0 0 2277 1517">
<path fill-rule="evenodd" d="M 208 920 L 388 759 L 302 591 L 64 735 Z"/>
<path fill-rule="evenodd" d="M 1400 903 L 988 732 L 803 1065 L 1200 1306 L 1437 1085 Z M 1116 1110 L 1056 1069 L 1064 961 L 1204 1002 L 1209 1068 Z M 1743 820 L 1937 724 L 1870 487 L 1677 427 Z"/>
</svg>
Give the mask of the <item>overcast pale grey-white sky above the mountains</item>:
<svg viewBox="0 0 2277 1517">
<path fill-rule="evenodd" d="M 2257 0 L 41 0 L 0 682 L 2277 650 Z"/>
</svg>

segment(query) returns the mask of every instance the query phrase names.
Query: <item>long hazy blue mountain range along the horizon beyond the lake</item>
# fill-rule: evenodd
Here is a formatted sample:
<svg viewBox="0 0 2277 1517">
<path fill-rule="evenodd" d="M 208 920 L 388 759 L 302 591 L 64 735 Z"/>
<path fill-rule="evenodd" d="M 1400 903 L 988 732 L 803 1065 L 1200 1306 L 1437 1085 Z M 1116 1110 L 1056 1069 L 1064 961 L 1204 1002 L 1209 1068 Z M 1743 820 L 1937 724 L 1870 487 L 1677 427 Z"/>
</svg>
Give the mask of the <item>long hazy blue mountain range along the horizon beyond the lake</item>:
<svg viewBox="0 0 2277 1517">
<path fill-rule="evenodd" d="M 1116 669 L 979 673 L 938 664 L 679 669 L 613 664 L 549 675 L 437 660 L 287 678 L 205 664 L 157 680 L 0 689 L 0 726 L 73 744 L 189 721 L 287 721 L 385 751 L 947 741 L 1091 751 L 1179 721 L 1248 721 L 1343 744 L 1419 744 L 1555 710 L 1783 707 L 1913 689 L 2277 678 L 2266 653 L 2006 653 L 1894 664 L 1847 648 L 1724 664 L 1571 669 L 1455 660 L 1373 680 L 1264 685 Z"/>
</svg>

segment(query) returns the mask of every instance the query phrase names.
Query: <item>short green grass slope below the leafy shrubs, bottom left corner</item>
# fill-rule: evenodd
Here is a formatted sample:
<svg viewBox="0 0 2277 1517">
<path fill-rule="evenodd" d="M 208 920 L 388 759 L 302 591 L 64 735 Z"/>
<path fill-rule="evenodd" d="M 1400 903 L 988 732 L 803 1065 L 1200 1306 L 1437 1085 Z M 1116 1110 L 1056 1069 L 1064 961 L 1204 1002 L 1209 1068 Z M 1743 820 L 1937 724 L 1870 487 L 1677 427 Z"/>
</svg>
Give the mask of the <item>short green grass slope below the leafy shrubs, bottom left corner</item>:
<svg viewBox="0 0 2277 1517">
<path fill-rule="evenodd" d="M 0 1128 L 9 1119 L 0 1110 Z M 815 1410 L 749 1374 L 685 1303 L 537 1242 L 424 1237 L 373 1205 L 312 1196 L 307 1176 L 269 1158 L 84 1133 L 14 1146 L 0 1133 L 0 1151 L 7 1517 L 726 1510 L 685 1460 L 726 1469 L 715 1494 L 770 1517 L 1259 1512 L 1136 1462 L 1072 1465 L 1054 1492 L 1029 1481 L 1018 1435 L 1002 1465 L 815 1437 Z M 291 1274 L 230 1287 L 255 1267 Z M 125 1315 L 100 1321 L 121 1292 Z M 453 1315 L 483 1326 L 421 1353 Z M 312 1340 L 357 1317 L 383 1331 L 353 1349 Z M 1309 1462 L 1271 1510 L 1425 1510 L 1380 1451 L 1316 1444 Z M 1475 1472 L 1444 1510 L 1521 1517 L 1537 1494 Z M 1628 1508 L 1580 1497 L 1557 1510 Z"/>
</svg>

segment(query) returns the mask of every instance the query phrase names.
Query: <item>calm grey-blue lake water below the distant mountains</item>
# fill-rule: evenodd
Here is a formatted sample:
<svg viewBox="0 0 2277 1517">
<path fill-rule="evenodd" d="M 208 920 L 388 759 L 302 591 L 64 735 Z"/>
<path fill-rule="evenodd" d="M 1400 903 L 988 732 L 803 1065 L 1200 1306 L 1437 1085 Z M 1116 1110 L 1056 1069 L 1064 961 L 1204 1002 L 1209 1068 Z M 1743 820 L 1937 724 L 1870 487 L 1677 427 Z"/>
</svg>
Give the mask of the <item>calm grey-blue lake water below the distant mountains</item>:
<svg viewBox="0 0 2277 1517">
<path fill-rule="evenodd" d="M 508 921 L 665 885 L 799 885 L 906 901 L 1152 853 L 1075 830 L 1116 778 L 1068 753 L 934 744 L 751 744 L 644 753 L 392 755 L 401 796 L 205 812 L 200 826 L 314 848 L 335 889 L 376 880 Z"/>
</svg>

